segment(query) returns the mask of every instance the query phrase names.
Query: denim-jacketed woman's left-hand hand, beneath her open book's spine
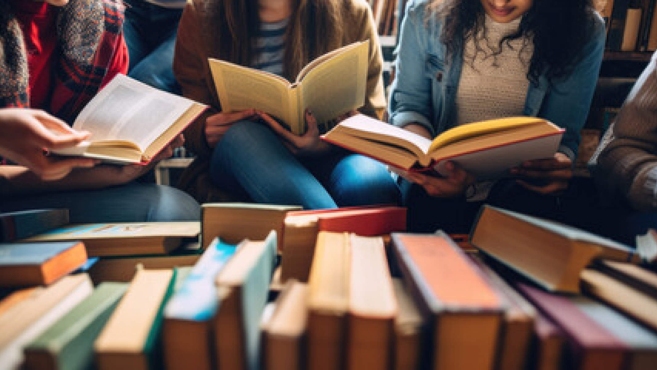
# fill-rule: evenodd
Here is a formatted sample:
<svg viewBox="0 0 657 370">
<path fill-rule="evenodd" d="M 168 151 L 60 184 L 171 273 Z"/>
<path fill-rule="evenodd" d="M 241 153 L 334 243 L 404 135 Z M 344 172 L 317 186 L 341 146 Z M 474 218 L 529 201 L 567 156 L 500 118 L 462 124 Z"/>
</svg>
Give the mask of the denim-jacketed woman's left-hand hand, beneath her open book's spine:
<svg viewBox="0 0 657 370">
<path fill-rule="evenodd" d="M 461 195 L 474 183 L 472 175 L 451 161 L 445 164 L 445 173 L 442 174 L 442 177 L 419 172 L 402 172 L 399 175 L 420 185 L 428 195 L 438 198 Z"/>
</svg>

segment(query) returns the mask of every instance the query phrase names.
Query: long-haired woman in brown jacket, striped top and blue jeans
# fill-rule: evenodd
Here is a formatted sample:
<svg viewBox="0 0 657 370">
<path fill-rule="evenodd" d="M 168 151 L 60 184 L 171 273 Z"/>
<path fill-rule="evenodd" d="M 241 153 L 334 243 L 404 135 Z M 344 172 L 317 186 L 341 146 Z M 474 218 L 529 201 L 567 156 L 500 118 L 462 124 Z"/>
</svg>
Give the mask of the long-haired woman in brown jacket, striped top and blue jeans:
<svg viewBox="0 0 657 370">
<path fill-rule="evenodd" d="M 365 40 L 370 41 L 369 66 L 360 112 L 377 116 L 385 106 L 382 60 L 365 2 L 189 2 L 179 24 L 173 69 L 183 95 L 212 109 L 185 133 L 198 158 L 183 174 L 183 189 L 201 202 L 221 200 L 220 189 L 223 199 L 232 193 L 309 209 L 397 202 L 399 191 L 385 166 L 321 141 L 312 112 L 306 112 L 304 135 L 290 133 L 267 112 L 222 112 L 208 66 L 212 57 L 293 81 L 314 58 Z"/>
</svg>

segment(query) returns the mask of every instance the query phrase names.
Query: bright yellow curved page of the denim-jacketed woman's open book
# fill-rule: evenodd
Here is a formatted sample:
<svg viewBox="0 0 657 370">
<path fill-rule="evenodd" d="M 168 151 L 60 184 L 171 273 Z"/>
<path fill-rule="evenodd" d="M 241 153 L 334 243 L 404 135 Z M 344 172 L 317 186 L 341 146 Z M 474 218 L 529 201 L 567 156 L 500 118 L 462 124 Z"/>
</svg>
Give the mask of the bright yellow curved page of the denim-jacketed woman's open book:
<svg viewBox="0 0 657 370">
<path fill-rule="evenodd" d="M 537 117 L 509 117 L 464 124 L 452 129 L 448 129 L 447 131 L 438 135 L 438 137 L 432 141 L 429 147 L 429 152 L 432 152 L 438 148 L 445 147 L 451 143 L 456 143 L 457 141 L 468 139 L 469 137 L 476 137 L 480 135 L 486 135 L 488 133 L 505 131 L 515 127 L 541 124 L 543 122 L 546 121 L 543 118 Z"/>
</svg>

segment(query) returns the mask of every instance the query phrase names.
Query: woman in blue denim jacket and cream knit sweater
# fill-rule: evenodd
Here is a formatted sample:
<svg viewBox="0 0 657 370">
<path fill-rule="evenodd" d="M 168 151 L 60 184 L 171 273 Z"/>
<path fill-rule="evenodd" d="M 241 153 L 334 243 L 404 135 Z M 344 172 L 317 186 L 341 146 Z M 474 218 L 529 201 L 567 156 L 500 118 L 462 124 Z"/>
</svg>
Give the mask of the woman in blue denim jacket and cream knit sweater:
<svg viewBox="0 0 657 370">
<path fill-rule="evenodd" d="M 453 163 L 442 175 L 402 173 L 411 230 L 466 232 L 484 200 L 557 217 L 604 51 L 604 23 L 591 1 L 412 0 L 407 10 L 391 124 L 427 138 L 508 116 L 566 129 L 553 158 L 513 168 L 515 179 L 475 183 Z"/>
</svg>

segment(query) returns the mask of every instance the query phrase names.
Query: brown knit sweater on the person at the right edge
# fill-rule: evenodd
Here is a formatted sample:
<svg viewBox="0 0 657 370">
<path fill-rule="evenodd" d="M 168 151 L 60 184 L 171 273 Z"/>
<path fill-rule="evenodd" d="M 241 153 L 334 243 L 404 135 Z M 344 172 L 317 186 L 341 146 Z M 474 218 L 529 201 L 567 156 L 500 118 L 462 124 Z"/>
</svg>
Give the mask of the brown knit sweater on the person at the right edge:
<svg viewBox="0 0 657 370">
<path fill-rule="evenodd" d="M 637 210 L 657 210 L 657 53 L 605 133 L 591 172 L 606 197 L 620 194 Z"/>
</svg>

